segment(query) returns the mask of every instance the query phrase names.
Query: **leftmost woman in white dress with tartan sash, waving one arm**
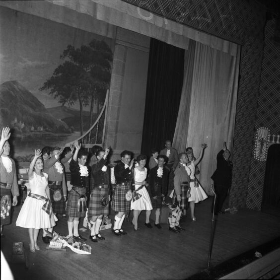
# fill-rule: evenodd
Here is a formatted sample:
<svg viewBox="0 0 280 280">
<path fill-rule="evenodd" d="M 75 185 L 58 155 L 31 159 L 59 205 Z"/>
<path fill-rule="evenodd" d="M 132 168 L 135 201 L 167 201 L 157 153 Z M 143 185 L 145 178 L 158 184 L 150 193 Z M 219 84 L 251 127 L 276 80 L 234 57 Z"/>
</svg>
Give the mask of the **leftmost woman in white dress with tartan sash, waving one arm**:
<svg viewBox="0 0 280 280">
<path fill-rule="evenodd" d="M 16 225 L 28 228 L 30 238 L 30 252 L 40 250 L 37 238 L 40 228 L 49 228 L 56 225 L 57 217 L 53 213 L 50 190 L 48 186 L 48 174 L 42 172 L 44 164 L 41 150 L 35 150 L 29 170 L 28 180 L 30 193 L 18 214 Z"/>
</svg>

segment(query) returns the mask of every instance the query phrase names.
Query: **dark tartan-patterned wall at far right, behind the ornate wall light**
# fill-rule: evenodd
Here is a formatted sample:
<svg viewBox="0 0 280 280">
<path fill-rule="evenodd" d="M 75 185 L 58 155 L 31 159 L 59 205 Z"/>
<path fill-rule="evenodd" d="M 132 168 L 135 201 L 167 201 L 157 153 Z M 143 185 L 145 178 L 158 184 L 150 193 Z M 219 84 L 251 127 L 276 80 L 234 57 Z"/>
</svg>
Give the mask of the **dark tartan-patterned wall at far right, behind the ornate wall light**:
<svg viewBox="0 0 280 280">
<path fill-rule="evenodd" d="M 280 44 L 273 40 L 276 19 L 269 20 L 265 29 L 264 57 L 260 94 L 255 123 L 255 136 L 260 128 L 269 132 L 268 142 L 280 141 Z M 256 141 L 256 137 L 254 139 Z M 256 158 L 253 150 L 246 206 L 261 210 L 266 161 Z M 264 158 L 266 159 L 267 149 Z"/>
</svg>

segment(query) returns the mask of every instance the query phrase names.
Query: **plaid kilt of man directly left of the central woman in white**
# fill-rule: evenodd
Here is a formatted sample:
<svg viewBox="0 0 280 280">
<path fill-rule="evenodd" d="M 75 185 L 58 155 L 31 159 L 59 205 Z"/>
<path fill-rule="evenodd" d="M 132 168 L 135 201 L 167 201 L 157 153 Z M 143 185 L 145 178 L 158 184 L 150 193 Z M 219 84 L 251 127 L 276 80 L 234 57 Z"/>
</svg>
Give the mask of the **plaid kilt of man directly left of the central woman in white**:
<svg viewBox="0 0 280 280">
<path fill-rule="evenodd" d="M 115 191 L 112 198 L 112 209 L 114 211 L 126 212 L 130 210 L 131 201 L 126 200 L 126 193 L 131 190 L 131 184 L 115 185 Z"/>
</svg>

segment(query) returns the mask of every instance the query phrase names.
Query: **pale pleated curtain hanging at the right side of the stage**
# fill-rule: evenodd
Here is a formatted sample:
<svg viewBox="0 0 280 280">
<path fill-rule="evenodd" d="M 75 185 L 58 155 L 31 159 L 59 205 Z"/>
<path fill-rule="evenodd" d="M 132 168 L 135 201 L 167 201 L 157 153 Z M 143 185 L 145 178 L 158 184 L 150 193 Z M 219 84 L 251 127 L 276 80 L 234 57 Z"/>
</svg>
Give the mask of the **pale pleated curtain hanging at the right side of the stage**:
<svg viewBox="0 0 280 280">
<path fill-rule="evenodd" d="M 193 69 L 185 73 L 186 81 L 192 76 L 192 84 L 190 88 L 184 82 L 173 146 L 179 152 L 191 146 L 198 157 L 201 144 L 208 144 L 198 179 L 211 195 L 210 177 L 216 168 L 216 154 L 223 141 L 229 150 L 232 148 L 240 47 L 233 56 L 196 42 L 194 56 Z M 184 110 L 189 111 L 189 120 L 180 114 Z"/>
</svg>

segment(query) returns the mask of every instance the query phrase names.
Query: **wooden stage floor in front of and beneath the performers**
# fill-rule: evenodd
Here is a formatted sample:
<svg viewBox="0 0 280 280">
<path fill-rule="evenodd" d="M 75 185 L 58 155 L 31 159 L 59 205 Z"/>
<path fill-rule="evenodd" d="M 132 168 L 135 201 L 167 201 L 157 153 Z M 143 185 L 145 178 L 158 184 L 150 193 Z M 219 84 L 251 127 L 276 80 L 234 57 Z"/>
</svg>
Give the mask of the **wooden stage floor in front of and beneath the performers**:
<svg viewBox="0 0 280 280">
<path fill-rule="evenodd" d="M 22 264 L 10 264 L 16 280 L 186 279 L 207 268 L 211 201 L 212 198 L 208 198 L 196 204 L 196 222 L 190 218 L 190 209 L 187 210 L 187 218 L 181 224 L 186 231 L 181 233 L 169 231 L 168 224 L 163 224 L 162 229 L 145 227 L 142 212 L 138 231 L 125 221 L 123 228 L 128 235 L 115 236 L 107 229 L 101 232 L 106 240 L 98 243 L 87 240 L 92 255 L 78 255 L 69 249 L 48 251 L 42 241 L 42 230 L 38 238 L 41 250 L 30 253 L 28 230 L 15 226 L 19 206 L 13 212 L 12 223 L 4 226 L 1 250 L 10 264 L 13 242 L 24 243 L 29 269 L 25 270 Z M 113 219 L 113 215 L 110 216 Z M 59 218 L 55 230 L 67 235 L 67 220 Z M 89 232 L 80 234 L 89 237 Z M 236 214 L 219 214 L 210 267 L 279 236 L 278 216 L 248 209 L 240 209 Z"/>
</svg>

